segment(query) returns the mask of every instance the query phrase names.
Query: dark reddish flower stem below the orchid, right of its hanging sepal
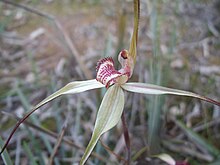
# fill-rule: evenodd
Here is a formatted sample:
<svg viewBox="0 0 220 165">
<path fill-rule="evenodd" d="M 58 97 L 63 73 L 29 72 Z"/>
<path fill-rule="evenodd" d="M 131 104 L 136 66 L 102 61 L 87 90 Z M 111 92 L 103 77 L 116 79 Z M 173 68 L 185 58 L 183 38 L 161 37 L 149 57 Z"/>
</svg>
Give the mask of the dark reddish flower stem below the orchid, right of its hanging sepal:
<svg viewBox="0 0 220 165">
<path fill-rule="evenodd" d="M 124 139 L 125 139 L 125 144 L 126 144 L 126 151 L 127 151 L 127 158 L 126 158 L 126 165 L 130 165 L 130 160 L 131 160 L 131 145 L 130 145 L 130 138 L 129 138 L 129 133 L 128 133 L 128 127 L 127 127 L 127 122 L 125 119 L 125 111 L 123 111 L 122 116 L 122 127 L 123 127 L 123 134 L 124 134 Z"/>
</svg>

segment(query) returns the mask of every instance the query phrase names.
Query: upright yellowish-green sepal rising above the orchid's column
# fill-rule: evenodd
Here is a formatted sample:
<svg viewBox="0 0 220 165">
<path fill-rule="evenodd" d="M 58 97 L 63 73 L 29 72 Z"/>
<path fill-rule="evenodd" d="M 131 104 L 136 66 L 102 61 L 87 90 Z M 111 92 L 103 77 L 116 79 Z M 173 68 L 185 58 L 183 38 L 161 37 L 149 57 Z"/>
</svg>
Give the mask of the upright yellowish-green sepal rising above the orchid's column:
<svg viewBox="0 0 220 165">
<path fill-rule="evenodd" d="M 140 1 L 134 0 L 134 27 L 133 27 L 133 34 L 129 47 L 129 55 L 133 58 L 134 63 L 136 62 L 136 55 L 137 55 L 139 17 L 140 17 Z"/>
</svg>

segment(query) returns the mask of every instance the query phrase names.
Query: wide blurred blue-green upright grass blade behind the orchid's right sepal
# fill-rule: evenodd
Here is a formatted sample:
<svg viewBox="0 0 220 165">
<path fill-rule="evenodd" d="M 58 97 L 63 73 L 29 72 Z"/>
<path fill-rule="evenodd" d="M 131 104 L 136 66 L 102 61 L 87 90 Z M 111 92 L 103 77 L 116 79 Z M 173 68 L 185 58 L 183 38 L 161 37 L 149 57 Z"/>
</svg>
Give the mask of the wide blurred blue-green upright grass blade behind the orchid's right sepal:
<svg viewBox="0 0 220 165">
<path fill-rule="evenodd" d="M 161 51 L 161 15 L 159 5 L 162 2 L 158 0 L 148 1 L 149 3 L 149 33 L 152 42 L 152 58 L 149 59 L 150 81 L 153 84 L 161 85 L 162 74 L 162 51 Z M 149 152 L 151 154 L 160 153 L 160 132 L 161 132 L 161 114 L 162 114 L 163 97 L 151 96 L 149 97 L 148 111 L 148 144 Z"/>
</svg>

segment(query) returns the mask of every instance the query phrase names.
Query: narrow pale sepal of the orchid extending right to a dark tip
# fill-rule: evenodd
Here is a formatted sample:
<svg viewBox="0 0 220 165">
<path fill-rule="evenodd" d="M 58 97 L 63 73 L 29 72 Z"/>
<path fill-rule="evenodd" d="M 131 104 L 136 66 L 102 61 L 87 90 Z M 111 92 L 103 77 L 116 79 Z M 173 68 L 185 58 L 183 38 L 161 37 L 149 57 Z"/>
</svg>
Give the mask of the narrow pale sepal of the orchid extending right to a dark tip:
<svg viewBox="0 0 220 165">
<path fill-rule="evenodd" d="M 143 93 L 143 94 L 153 94 L 153 95 L 162 95 L 162 94 L 172 94 L 180 96 L 190 96 L 205 100 L 212 104 L 220 106 L 220 102 L 212 100 L 210 98 L 178 89 L 166 88 L 158 85 L 147 84 L 147 83 L 126 83 L 121 85 L 121 87 L 130 92 Z"/>
</svg>

